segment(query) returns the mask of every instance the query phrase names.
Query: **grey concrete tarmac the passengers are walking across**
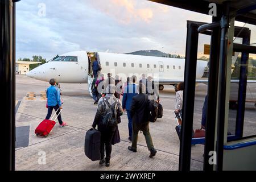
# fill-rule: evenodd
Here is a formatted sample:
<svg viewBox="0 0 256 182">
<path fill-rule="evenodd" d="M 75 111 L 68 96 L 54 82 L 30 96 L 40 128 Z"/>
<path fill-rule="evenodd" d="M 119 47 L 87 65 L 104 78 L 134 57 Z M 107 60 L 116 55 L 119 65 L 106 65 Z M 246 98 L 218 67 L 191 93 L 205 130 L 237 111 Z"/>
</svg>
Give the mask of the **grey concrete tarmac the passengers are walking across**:
<svg viewBox="0 0 256 182">
<path fill-rule="evenodd" d="M 46 117 L 46 100 L 43 95 L 48 82 L 38 81 L 27 76 L 16 76 L 16 151 L 15 167 L 17 171 L 73 171 L 73 170 L 135 170 L 135 171 L 175 171 L 179 168 L 179 138 L 174 118 L 175 90 L 173 86 L 164 86 L 160 91 L 160 103 L 163 105 L 163 117 L 150 123 L 150 133 L 156 150 L 156 156 L 149 158 L 144 136 L 139 133 L 137 152 L 127 150 L 131 146 L 128 140 L 127 115 L 122 115 L 118 125 L 121 142 L 112 147 L 110 167 L 100 166 L 84 154 L 84 140 L 94 119 L 97 105 L 88 92 L 87 84 L 60 84 L 64 101 L 61 117 L 68 126 L 59 127 L 57 122 L 48 137 L 36 137 L 34 131 Z M 255 90 L 255 89 L 254 89 Z M 193 129 L 201 126 L 201 113 L 207 85 L 196 87 Z M 251 104 L 252 105 L 252 104 Z M 255 108 L 249 106 L 249 133 L 255 134 Z M 254 114 L 254 115 L 252 115 Z M 250 129 L 250 125 L 254 128 Z M 192 146 L 191 170 L 203 169 L 204 145 Z"/>
</svg>

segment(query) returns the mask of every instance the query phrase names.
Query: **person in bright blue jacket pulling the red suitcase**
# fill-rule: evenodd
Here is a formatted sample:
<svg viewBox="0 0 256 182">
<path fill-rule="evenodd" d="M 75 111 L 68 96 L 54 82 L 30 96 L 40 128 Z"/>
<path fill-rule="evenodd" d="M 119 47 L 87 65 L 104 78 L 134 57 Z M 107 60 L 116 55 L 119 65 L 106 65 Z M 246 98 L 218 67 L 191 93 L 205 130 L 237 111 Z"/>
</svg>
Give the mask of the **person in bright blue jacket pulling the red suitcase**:
<svg viewBox="0 0 256 182">
<path fill-rule="evenodd" d="M 49 86 L 49 88 L 47 89 L 47 92 L 46 92 L 47 106 L 48 106 L 48 112 L 46 115 L 46 119 L 49 119 L 51 117 L 53 109 L 55 111 L 57 111 L 59 109 L 56 114 L 59 114 L 60 110 L 62 109 L 61 98 L 60 98 L 60 89 L 58 89 L 55 86 L 55 84 L 56 84 L 55 79 L 51 78 L 51 80 L 49 80 L 49 84 L 51 84 L 51 86 Z M 68 125 L 67 123 L 62 121 L 60 114 L 58 115 L 57 118 L 58 118 L 60 127 Z"/>
</svg>

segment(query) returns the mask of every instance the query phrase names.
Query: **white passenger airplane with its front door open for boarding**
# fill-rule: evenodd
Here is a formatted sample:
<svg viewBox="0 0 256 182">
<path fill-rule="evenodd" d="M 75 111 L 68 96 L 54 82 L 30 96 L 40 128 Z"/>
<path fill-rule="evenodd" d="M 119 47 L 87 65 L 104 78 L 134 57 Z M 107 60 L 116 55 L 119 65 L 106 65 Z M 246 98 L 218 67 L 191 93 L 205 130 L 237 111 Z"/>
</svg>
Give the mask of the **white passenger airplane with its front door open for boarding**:
<svg viewBox="0 0 256 182">
<path fill-rule="evenodd" d="M 73 51 L 55 56 L 47 63 L 32 69 L 28 77 L 49 81 L 55 78 L 57 83 L 87 83 L 92 96 L 92 63 L 97 57 L 101 64 L 101 73 L 112 73 L 126 81 L 133 75 L 138 78 L 142 73 L 152 76 L 158 82 L 159 90 L 163 85 L 174 85 L 184 81 L 184 59 L 169 57 L 140 56 L 108 52 Z M 196 82 L 208 82 L 203 79 L 208 69 L 208 61 L 197 60 Z"/>
</svg>

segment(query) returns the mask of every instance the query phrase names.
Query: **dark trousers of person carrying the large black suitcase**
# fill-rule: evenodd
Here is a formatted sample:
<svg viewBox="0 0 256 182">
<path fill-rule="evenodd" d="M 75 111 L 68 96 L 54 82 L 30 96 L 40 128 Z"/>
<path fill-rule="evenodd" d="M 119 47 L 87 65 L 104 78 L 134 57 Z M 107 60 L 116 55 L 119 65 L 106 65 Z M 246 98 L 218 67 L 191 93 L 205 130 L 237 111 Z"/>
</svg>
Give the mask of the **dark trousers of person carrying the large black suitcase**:
<svg viewBox="0 0 256 182">
<path fill-rule="evenodd" d="M 106 162 L 110 161 L 114 131 L 115 129 L 101 131 L 101 159 L 104 159 L 106 150 Z"/>
</svg>

